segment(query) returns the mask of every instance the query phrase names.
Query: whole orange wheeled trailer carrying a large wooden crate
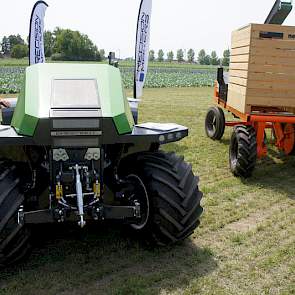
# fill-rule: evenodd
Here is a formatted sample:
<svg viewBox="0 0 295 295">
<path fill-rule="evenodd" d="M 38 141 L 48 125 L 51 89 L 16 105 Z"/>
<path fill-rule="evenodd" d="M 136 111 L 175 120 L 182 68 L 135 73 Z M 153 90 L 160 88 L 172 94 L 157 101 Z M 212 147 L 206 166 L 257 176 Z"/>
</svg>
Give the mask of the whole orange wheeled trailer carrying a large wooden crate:
<svg viewBox="0 0 295 295">
<path fill-rule="evenodd" d="M 267 156 L 267 129 L 279 151 L 295 151 L 295 27 L 282 26 L 291 10 L 292 1 L 277 0 L 264 24 L 234 31 L 229 71 L 217 72 L 217 106 L 208 110 L 205 131 L 221 140 L 233 127 L 229 164 L 238 177 L 250 177 Z M 224 111 L 234 120 L 226 121 Z"/>
</svg>

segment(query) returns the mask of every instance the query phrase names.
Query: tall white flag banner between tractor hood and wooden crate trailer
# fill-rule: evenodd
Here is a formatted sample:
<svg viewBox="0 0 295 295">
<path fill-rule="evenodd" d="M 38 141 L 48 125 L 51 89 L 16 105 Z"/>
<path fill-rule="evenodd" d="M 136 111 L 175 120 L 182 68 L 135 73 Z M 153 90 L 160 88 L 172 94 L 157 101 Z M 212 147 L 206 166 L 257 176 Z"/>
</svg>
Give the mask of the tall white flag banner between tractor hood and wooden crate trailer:
<svg viewBox="0 0 295 295">
<path fill-rule="evenodd" d="M 141 0 L 136 35 L 134 98 L 142 96 L 149 61 L 152 0 Z"/>
</svg>

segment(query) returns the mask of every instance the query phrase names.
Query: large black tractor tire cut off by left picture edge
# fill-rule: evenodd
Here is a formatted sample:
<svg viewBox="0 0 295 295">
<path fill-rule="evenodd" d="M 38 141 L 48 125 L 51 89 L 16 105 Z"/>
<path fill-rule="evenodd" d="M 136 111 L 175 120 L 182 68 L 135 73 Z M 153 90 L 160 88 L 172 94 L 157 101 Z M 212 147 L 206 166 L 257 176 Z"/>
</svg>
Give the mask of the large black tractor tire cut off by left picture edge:
<svg viewBox="0 0 295 295">
<path fill-rule="evenodd" d="M 18 262 L 30 249 L 30 233 L 18 224 L 18 210 L 23 203 L 17 167 L 0 161 L 0 268 Z"/>
</svg>

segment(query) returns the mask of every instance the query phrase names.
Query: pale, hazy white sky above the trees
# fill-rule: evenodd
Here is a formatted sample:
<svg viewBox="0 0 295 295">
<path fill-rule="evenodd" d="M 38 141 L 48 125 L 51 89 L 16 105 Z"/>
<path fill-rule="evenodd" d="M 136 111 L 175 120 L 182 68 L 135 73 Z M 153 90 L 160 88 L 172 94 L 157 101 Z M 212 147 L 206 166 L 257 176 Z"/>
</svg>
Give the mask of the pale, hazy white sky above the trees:
<svg viewBox="0 0 295 295">
<path fill-rule="evenodd" d="M 139 0 L 48 0 L 45 28 L 80 30 L 107 52 L 121 57 L 134 54 Z M 3 1 L 0 38 L 28 35 L 35 1 Z M 153 0 L 151 48 L 176 51 L 193 48 L 216 50 L 230 46 L 231 31 L 250 22 L 263 23 L 274 0 Z M 295 10 L 286 24 L 295 25 Z"/>
</svg>

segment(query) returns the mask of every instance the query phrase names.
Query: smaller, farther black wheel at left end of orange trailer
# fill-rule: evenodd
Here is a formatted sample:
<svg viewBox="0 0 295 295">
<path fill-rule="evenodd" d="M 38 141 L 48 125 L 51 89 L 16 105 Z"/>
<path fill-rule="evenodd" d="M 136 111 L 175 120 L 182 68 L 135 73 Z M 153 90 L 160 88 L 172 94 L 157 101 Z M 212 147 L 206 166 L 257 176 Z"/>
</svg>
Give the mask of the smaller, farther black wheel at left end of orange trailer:
<svg viewBox="0 0 295 295">
<path fill-rule="evenodd" d="M 205 119 L 205 131 L 212 140 L 221 140 L 225 130 L 225 117 L 219 107 L 211 107 Z"/>
</svg>

